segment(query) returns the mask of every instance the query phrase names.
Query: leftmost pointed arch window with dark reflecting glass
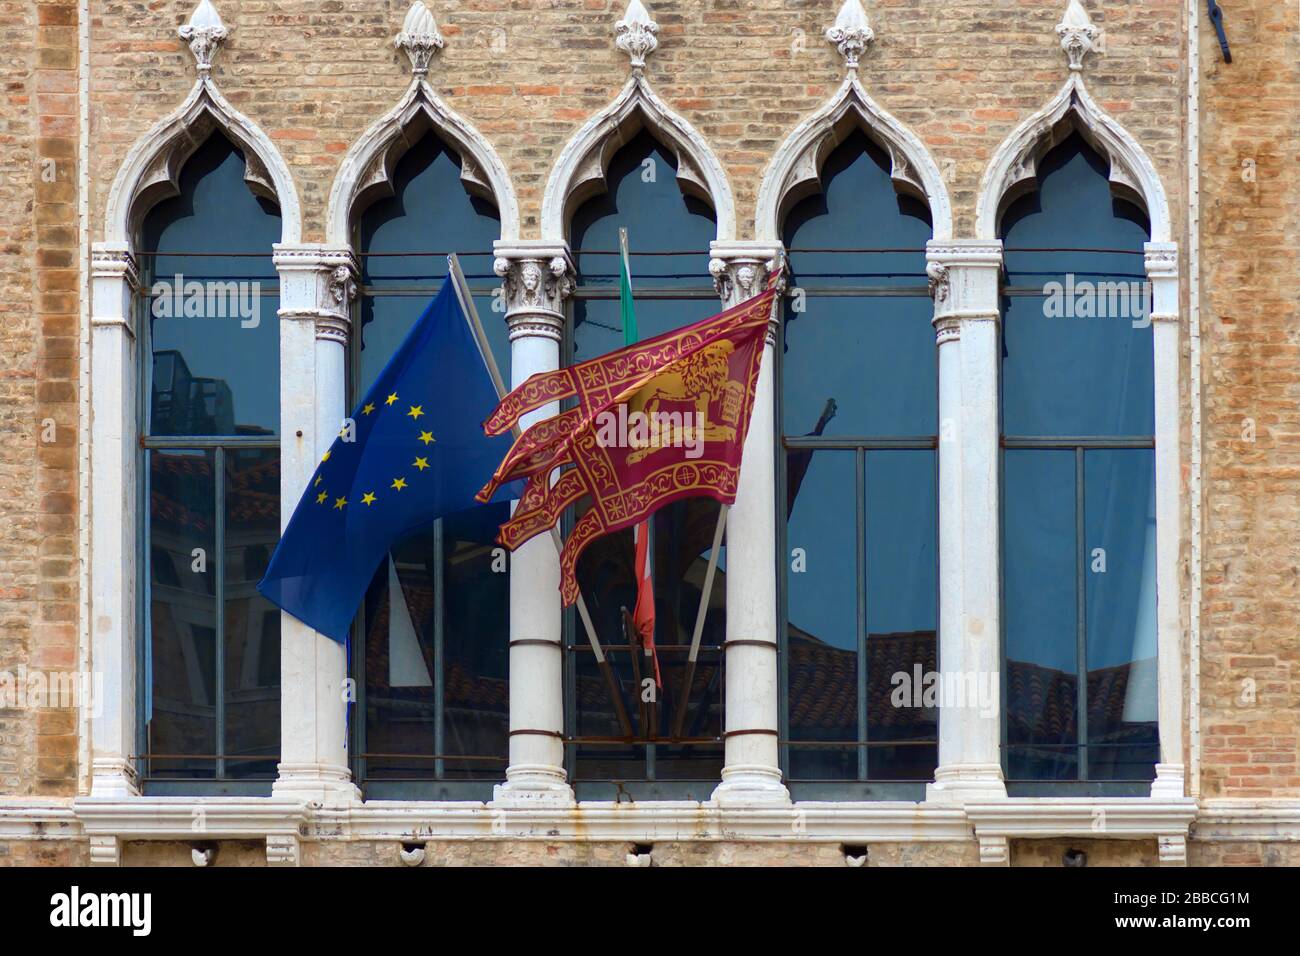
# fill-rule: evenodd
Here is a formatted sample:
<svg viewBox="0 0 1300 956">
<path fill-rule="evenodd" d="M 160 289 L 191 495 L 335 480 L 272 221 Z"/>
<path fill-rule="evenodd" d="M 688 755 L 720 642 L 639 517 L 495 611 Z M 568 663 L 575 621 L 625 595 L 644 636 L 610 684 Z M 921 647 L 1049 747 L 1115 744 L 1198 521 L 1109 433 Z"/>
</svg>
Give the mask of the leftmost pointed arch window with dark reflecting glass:
<svg viewBox="0 0 1300 956">
<path fill-rule="evenodd" d="M 140 211 L 140 775 L 263 791 L 280 753 L 278 206 L 218 129 Z"/>
</svg>

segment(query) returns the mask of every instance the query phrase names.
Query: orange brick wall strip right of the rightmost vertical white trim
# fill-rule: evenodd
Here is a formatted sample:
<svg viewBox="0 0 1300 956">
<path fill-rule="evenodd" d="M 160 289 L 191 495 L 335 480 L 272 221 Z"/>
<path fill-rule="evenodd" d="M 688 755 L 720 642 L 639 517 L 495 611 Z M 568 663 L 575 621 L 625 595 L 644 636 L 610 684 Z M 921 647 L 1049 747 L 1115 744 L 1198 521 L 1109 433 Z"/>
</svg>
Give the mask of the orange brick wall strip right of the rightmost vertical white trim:
<svg viewBox="0 0 1300 956">
<path fill-rule="evenodd" d="M 1300 23 L 1201 39 L 1205 796 L 1300 796 Z M 1253 429 L 1253 436 L 1252 436 Z M 1252 441 L 1253 437 L 1253 441 Z"/>
</svg>

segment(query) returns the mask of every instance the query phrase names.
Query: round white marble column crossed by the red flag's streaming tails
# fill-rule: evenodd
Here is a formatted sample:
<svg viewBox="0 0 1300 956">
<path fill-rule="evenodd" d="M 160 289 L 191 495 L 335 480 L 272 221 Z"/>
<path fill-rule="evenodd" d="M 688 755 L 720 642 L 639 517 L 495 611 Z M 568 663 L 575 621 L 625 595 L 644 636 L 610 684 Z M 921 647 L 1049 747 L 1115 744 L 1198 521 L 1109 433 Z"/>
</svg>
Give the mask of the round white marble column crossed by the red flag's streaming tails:
<svg viewBox="0 0 1300 956">
<path fill-rule="evenodd" d="M 506 291 L 511 382 L 560 367 L 564 299 L 573 291 L 568 247 L 498 241 L 494 271 Z M 488 321 L 485 317 L 484 321 Z M 559 412 L 538 408 L 520 428 Z M 564 654 L 560 563 L 550 535 L 538 535 L 510 559 L 510 763 L 493 792 L 495 806 L 569 806 L 564 771 Z"/>
</svg>

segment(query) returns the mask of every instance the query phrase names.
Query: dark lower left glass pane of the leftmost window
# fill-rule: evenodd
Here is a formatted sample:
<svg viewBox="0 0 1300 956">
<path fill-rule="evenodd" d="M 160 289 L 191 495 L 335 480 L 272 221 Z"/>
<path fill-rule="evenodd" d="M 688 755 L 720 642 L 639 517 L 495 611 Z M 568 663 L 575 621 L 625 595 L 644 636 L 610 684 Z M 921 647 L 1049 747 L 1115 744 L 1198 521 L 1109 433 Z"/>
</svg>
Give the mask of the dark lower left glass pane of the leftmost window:
<svg viewBox="0 0 1300 956">
<path fill-rule="evenodd" d="M 216 747 L 216 458 L 150 451 L 147 727 L 153 777 L 211 778 Z M 179 754 L 179 756 L 178 756 Z M 183 754 L 202 754 L 185 757 Z"/>
</svg>

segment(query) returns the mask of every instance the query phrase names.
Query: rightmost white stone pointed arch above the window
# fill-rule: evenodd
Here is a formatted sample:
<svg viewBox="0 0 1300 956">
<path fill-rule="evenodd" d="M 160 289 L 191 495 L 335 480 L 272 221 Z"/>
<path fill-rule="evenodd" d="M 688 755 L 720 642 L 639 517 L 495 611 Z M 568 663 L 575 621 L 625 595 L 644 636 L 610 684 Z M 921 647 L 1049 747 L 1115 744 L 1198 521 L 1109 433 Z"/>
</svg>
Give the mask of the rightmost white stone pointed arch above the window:
<svg viewBox="0 0 1300 956">
<path fill-rule="evenodd" d="M 1154 164 L 1138 140 L 1097 105 L 1082 73 L 1071 73 L 1060 92 L 997 147 L 980 179 L 976 237 L 997 238 L 1008 206 L 1037 189 L 1039 161 L 1071 133 L 1079 133 L 1110 164 L 1112 191 L 1147 212 L 1152 242 L 1170 242 L 1169 200 Z"/>
</svg>

